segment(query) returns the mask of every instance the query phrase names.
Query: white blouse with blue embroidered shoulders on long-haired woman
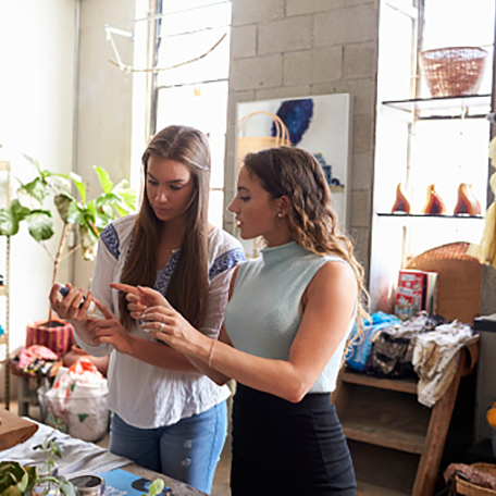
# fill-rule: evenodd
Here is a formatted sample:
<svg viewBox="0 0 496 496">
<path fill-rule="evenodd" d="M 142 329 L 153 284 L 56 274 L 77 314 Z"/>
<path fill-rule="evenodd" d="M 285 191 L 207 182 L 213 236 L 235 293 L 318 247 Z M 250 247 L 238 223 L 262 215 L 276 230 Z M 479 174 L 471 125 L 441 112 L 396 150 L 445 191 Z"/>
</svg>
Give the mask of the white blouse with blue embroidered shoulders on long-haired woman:
<svg viewBox="0 0 496 496">
<path fill-rule="evenodd" d="M 101 233 L 98 246 L 91 292 L 117 317 L 119 292 L 111 289 L 110 283 L 121 281 L 135 221 L 136 215 L 128 215 L 109 224 Z M 178 251 L 174 252 L 168 264 L 157 272 L 154 288 L 162 294 L 165 294 L 178 255 Z M 210 233 L 210 293 L 201 331 L 211 337 L 219 335 L 222 325 L 233 269 L 245 260 L 241 245 L 234 236 L 220 228 L 214 228 Z M 128 332 L 154 342 L 141 331 L 138 323 Z M 227 386 L 218 386 L 204 375 L 149 365 L 128 355 L 120 354 L 111 345 L 89 346 L 77 336 L 76 342 L 90 355 L 103 357 L 110 354 L 109 409 L 136 427 L 154 429 L 171 425 L 181 419 L 207 411 L 230 396 Z"/>
</svg>

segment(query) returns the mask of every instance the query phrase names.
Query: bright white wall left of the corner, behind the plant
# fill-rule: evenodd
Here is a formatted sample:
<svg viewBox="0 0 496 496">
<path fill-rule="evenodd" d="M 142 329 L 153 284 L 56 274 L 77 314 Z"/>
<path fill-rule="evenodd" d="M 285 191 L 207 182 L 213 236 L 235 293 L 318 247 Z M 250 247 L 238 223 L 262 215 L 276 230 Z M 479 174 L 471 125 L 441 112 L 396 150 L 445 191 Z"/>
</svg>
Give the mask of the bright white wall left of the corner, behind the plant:
<svg viewBox="0 0 496 496">
<path fill-rule="evenodd" d="M 75 7 L 75 0 L 0 0 L 1 153 L 23 181 L 33 177 L 23 153 L 52 171 L 72 166 Z M 52 268 L 24 226 L 12 238 L 11 350 L 24 344 L 28 321 L 47 318 Z"/>
</svg>

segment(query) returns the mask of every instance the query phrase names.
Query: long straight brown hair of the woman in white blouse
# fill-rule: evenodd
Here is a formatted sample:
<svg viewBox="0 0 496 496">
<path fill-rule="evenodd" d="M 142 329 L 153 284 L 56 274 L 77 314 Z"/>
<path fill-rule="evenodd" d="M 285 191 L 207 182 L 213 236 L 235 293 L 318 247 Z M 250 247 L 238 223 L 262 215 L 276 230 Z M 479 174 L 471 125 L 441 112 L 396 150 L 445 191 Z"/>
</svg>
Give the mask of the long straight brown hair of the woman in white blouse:
<svg viewBox="0 0 496 496">
<path fill-rule="evenodd" d="M 208 280 L 208 203 L 210 183 L 210 147 L 207 137 L 187 126 L 169 126 L 151 139 L 141 162 L 145 190 L 136 219 L 132 248 L 121 276 L 131 285 L 153 287 L 157 277 L 159 233 L 162 222 L 157 218 L 147 196 L 148 159 L 153 154 L 186 165 L 193 174 L 194 193 L 181 253 L 166 290 L 169 302 L 188 322 L 199 328 L 203 322 L 209 292 Z M 125 295 L 120 295 L 122 323 L 132 322 Z"/>
</svg>

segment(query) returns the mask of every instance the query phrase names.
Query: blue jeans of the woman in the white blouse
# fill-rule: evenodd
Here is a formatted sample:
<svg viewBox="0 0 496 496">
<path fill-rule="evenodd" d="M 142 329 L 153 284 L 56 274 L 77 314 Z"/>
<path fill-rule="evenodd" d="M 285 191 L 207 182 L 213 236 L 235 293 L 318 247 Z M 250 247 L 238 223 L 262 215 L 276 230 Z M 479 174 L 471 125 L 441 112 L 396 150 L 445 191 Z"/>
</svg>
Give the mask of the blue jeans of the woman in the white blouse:
<svg viewBox="0 0 496 496">
<path fill-rule="evenodd" d="M 113 413 L 109 449 L 210 494 L 226 433 L 225 401 L 158 429 L 134 427 Z"/>
</svg>

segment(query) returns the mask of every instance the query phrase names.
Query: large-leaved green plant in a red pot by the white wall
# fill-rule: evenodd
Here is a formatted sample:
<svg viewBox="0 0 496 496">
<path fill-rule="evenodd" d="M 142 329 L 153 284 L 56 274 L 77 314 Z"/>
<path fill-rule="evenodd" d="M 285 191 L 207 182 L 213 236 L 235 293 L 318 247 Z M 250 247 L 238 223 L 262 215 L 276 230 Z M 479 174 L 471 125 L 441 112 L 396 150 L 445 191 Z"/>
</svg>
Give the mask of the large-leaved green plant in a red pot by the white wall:
<svg viewBox="0 0 496 496">
<path fill-rule="evenodd" d="M 21 186 L 11 204 L 0 209 L 0 235 L 14 236 L 21 223 L 26 222 L 30 236 L 44 247 L 53 262 L 53 285 L 58 281 L 61 261 L 77 250 L 80 250 L 85 260 L 95 260 L 100 233 L 112 220 L 134 211 L 136 195 L 128 187 L 127 181 L 123 179 L 114 185 L 103 168 L 94 165 L 102 193 L 89 200 L 85 183 L 79 175 L 73 172 L 59 174 L 44 170 L 35 159 L 27 156 L 25 158 L 34 165 L 37 174 L 26 184 L 20 181 Z M 77 195 L 73 195 L 72 185 L 75 186 Z M 46 244 L 54 235 L 52 213 L 48 207 L 50 200 L 63 224 L 57 252 L 50 251 Z M 77 243 L 70 247 L 67 238 L 71 233 Z M 52 330 L 66 326 L 69 324 L 55 319 L 49 309 L 48 319 L 33 323 L 28 327 L 28 334 L 32 328 L 35 333 L 39 331 L 49 334 Z M 71 326 L 69 332 L 72 336 Z M 34 340 L 37 344 L 44 344 L 44 339 L 41 343 L 38 338 Z M 59 344 L 61 344 L 60 340 Z M 67 346 L 67 343 L 65 345 Z M 64 347 L 63 340 L 61 346 Z M 53 351 L 63 355 L 61 349 L 53 349 Z"/>
</svg>

